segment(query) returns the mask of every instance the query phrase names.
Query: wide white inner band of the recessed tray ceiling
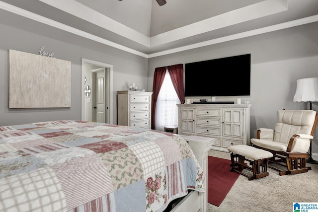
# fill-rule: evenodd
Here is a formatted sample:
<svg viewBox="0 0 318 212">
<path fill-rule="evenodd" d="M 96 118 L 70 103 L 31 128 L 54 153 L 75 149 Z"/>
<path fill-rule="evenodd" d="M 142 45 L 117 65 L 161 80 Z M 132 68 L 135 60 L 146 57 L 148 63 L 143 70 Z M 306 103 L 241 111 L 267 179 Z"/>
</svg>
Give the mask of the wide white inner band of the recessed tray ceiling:
<svg viewBox="0 0 318 212">
<path fill-rule="evenodd" d="M 153 37 L 148 37 L 76 0 L 68 0 L 67 3 L 65 3 L 65 0 L 39 1 L 148 48 L 288 10 L 288 0 L 263 0 Z"/>
</svg>

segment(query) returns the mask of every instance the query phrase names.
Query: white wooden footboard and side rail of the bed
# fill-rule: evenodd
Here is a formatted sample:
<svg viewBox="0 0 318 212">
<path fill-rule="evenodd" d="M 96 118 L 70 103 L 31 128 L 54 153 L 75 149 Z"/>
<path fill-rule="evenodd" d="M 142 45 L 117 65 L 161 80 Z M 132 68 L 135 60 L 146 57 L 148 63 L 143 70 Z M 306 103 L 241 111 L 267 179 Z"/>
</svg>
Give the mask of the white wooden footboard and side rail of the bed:
<svg viewBox="0 0 318 212">
<path fill-rule="evenodd" d="M 176 135 L 176 134 L 174 134 Z M 205 176 L 203 186 L 205 193 L 191 191 L 171 212 L 207 212 L 208 209 L 208 151 L 216 139 L 201 136 L 176 135 L 188 141 L 193 153 L 198 159 Z"/>
</svg>

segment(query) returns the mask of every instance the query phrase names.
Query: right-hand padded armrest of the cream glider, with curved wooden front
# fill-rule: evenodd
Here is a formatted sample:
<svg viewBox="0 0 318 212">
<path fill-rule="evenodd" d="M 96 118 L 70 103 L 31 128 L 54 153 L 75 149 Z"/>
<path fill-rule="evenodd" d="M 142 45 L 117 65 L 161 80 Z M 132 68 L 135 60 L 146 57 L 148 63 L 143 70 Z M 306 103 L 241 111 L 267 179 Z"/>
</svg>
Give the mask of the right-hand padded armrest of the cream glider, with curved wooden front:
<svg viewBox="0 0 318 212">
<path fill-rule="evenodd" d="M 314 139 L 314 137 L 311 135 L 296 134 L 289 140 L 286 151 L 307 153 L 310 147 L 311 139 Z"/>
</svg>

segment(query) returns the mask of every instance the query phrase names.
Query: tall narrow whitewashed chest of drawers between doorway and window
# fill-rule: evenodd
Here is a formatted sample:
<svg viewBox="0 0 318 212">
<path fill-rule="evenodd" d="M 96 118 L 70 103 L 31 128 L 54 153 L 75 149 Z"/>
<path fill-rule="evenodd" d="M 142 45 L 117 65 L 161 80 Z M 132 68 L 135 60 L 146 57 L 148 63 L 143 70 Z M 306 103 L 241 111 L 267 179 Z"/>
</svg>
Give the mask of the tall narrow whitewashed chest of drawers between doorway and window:
<svg viewBox="0 0 318 212">
<path fill-rule="evenodd" d="M 124 90 L 117 91 L 118 125 L 134 128 L 151 128 L 152 92 Z"/>
</svg>

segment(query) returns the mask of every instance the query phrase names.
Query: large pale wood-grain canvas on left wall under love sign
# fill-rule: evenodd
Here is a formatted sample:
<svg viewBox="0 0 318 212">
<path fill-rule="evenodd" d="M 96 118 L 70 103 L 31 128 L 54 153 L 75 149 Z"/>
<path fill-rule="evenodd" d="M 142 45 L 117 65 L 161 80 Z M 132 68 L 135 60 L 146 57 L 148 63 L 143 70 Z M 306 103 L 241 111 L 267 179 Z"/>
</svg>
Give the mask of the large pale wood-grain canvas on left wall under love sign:
<svg viewBox="0 0 318 212">
<path fill-rule="evenodd" d="M 9 50 L 9 108 L 71 107 L 71 62 Z"/>
</svg>

